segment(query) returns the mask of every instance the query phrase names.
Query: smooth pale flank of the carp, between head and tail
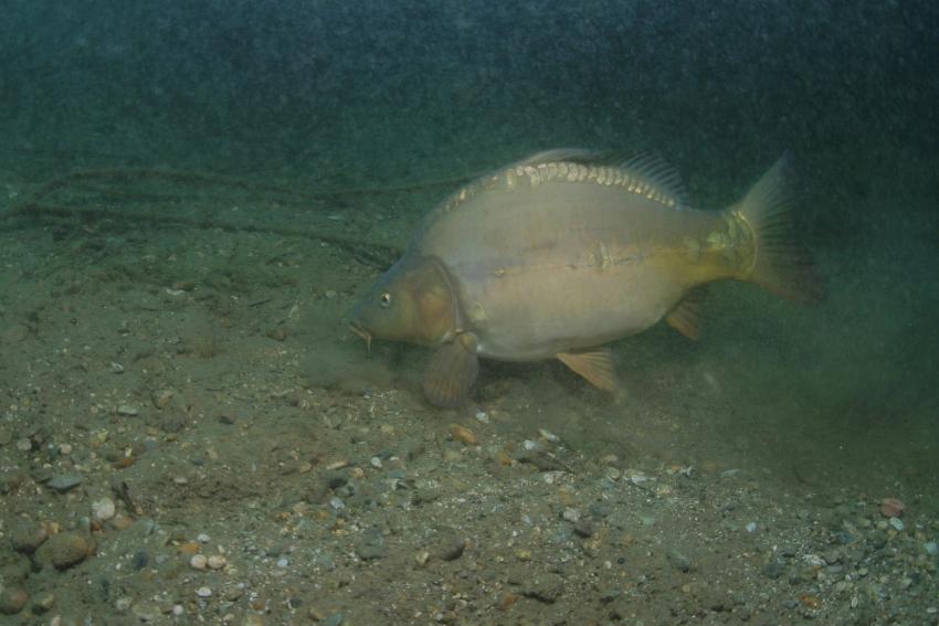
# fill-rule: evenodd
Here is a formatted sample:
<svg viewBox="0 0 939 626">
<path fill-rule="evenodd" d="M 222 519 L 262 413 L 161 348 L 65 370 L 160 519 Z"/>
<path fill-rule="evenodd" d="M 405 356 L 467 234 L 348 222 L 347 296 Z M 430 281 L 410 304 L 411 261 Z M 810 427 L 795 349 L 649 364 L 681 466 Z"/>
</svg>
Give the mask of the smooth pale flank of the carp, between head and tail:
<svg viewBox="0 0 939 626">
<path fill-rule="evenodd" d="M 454 277 L 479 353 L 524 361 L 656 323 L 696 283 L 687 242 L 714 222 L 618 189 L 545 184 L 481 194 L 423 243 Z"/>
</svg>

